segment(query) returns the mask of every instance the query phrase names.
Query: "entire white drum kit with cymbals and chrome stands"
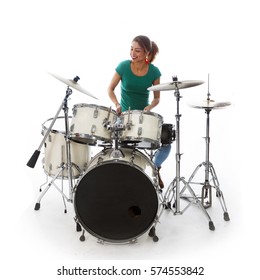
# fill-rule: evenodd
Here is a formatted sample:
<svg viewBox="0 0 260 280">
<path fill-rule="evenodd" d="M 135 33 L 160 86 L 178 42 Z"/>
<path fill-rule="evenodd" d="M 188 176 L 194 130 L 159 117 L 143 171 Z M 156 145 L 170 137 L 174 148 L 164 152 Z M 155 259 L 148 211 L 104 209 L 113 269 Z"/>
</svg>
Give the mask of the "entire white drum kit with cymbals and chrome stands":
<svg viewBox="0 0 260 280">
<path fill-rule="evenodd" d="M 43 139 L 27 163 L 27 166 L 34 168 L 44 147 L 42 163 L 47 179 L 40 186 L 41 195 L 34 210 L 40 209 L 43 196 L 54 186 L 62 196 L 65 213 L 66 202 L 73 203 L 76 230 L 82 232 L 81 241 L 85 240 L 87 231 L 100 243 L 133 243 L 149 231 L 149 236 L 156 242 L 159 238 L 155 228 L 163 211 L 182 214 L 191 204 L 199 206 L 209 220 L 209 229 L 214 230 L 206 210 L 212 205 L 211 189 L 214 188 L 224 211 L 224 220 L 229 220 L 216 172 L 209 161 L 210 112 L 230 105 L 229 102 L 214 102 L 208 93 L 207 101 L 192 104 L 193 108 L 203 109 L 207 113 L 206 160 L 185 181 L 180 173 L 179 90 L 198 86 L 203 81 L 178 81 L 177 77 L 173 77 L 171 83 L 148 88 L 174 91 L 177 113 L 176 125 L 172 125 L 164 123 L 162 116 L 156 113 L 129 109 L 117 115 L 111 108 L 85 103 L 74 105 L 72 116 L 69 116 L 68 98 L 73 92 L 72 88 L 97 98 L 78 84 L 78 76 L 70 80 L 49 74 L 66 84 L 67 89 L 55 116 L 42 124 Z M 62 110 L 64 116 L 60 116 Z M 174 141 L 176 177 L 164 194 L 159 187 L 153 157 L 161 146 Z M 93 147 L 101 149 L 94 156 L 91 155 Z M 205 181 L 194 182 L 201 167 L 205 167 Z M 64 192 L 64 181 L 68 182 L 68 195 Z M 201 196 L 195 194 L 192 184 L 202 186 Z M 183 210 L 181 199 L 188 202 Z"/>
</svg>

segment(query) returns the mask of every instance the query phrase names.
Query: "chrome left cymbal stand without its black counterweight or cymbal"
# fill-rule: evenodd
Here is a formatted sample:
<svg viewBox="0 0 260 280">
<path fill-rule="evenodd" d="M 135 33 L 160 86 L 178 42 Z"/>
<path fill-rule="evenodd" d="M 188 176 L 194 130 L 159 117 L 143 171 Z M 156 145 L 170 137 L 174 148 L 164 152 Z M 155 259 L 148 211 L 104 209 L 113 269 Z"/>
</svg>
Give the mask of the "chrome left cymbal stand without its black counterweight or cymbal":
<svg viewBox="0 0 260 280">
<path fill-rule="evenodd" d="M 67 163 L 62 163 L 62 165 L 60 166 L 58 172 L 55 174 L 55 176 L 53 177 L 53 179 L 50 181 L 50 183 L 48 183 L 47 187 L 43 190 L 42 194 L 40 195 L 40 197 L 37 200 L 37 203 L 35 204 L 34 210 L 39 210 L 40 209 L 40 201 L 43 198 L 43 196 L 47 193 L 47 191 L 50 189 L 50 187 L 53 185 L 62 195 L 63 198 L 63 202 L 65 205 L 65 213 L 66 211 L 66 204 L 65 204 L 65 199 L 68 202 L 72 202 L 73 200 L 73 181 L 72 181 L 72 166 L 74 166 L 79 172 L 81 172 L 80 168 L 75 165 L 74 163 L 71 162 L 71 149 L 70 149 L 70 139 L 69 139 L 69 115 L 68 115 L 68 98 L 69 96 L 72 94 L 72 90 L 68 87 L 66 90 L 66 95 L 65 98 L 63 99 L 62 105 L 59 108 L 57 114 L 55 115 L 50 128 L 47 130 L 46 134 L 44 135 L 43 140 L 45 141 L 46 138 L 48 137 L 51 128 L 53 126 L 53 124 L 55 123 L 56 119 L 58 118 L 58 115 L 61 111 L 61 109 L 63 109 L 64 111 L 64 119 L 65 119 L 65 151 L 66 151 L 66 158 L 67 158 Z M 44 143 L 44 142 L 43 142 Z M 63 192 L 63 170 L 67 169 L 68 171 L 68 182 L 69 182 L 69 197 L 67 197 L 64 192 Z M 62 189 L 60 189 L 56 184 L 55 184 L 55 180 L 57 178 L 60 177 L 60 174 L 62 174 Z M 48 182 L 48 180 L 47 180 Z"/>
</svg>

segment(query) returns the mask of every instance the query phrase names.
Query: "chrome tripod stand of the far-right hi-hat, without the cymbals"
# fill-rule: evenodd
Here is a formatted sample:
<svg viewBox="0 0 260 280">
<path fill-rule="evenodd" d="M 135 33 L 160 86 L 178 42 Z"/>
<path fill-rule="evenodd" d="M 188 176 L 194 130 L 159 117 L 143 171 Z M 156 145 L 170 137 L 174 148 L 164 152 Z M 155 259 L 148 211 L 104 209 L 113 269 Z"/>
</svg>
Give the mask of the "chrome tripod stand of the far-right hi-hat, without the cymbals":
<svg viewBox="0 0 260 280">
<path fill-rule="evenodd" d="M 208 93 L 208 101 L 210 101 L 209 98 L 209 93 Z M 205 141 L 206 141 L 206 160 L 202 163 L 200 163 L 194 170 L 194 172 L 192 173 L 192 175 L 189 178 L 189 183 L 190 184 L 199 184 L 202 185 L 202 192 L 201 192 L 201 203 L 203 205 L 204 208 L 209 208 L 212 206 L 212 187 L 215 188 L 216 190 L 216 196 L 218 197 L 222 210 L 224 212 L 224 220 L 225 221 L 229 221 L 229 214 L 227 212 L 227 207 L 226 207 L 226 203 L 225 203 L 225 199 L 223 196 L 222 191 L 219 188 L 219 181 L 217 178 L 217 174 L 215 172 L 215 169 L 213 167 L 213 164 L 210 162 L 209 160 L 209 148 L 210 148 L 210 136 L 209 136 L 209 127 L 210 127 L 210 112 L 211 112 L 212 108 L 205 108 L 205 113 L 207 114 L 207 118 L 206 118 L 206 137 L 205 137 Z M 197 172 L 199 171 L 199 169 L 204 166 L 205 167 L 205 181 L 204 183 L 196 183 L 196 182 L 192 182 L 192 180 L 194 179 L 195 175 L 197 174 Z M 210 179 L 210 175 L 211 175 L 211 179 Z M 212 181 L 213 185 L 210 184 L 210 182 Z"/>
</svg>

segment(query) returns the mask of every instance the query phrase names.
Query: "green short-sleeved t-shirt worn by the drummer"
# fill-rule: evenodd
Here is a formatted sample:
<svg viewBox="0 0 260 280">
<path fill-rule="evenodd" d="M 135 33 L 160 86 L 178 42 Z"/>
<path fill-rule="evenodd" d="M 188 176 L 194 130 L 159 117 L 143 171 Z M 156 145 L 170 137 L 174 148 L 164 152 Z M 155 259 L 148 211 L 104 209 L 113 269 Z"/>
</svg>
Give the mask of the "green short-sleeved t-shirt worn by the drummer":
<svg viewBox="0 0 260 280">
<path fill-rule="evenodd" d="M 121 107 L 122 111 L 143 110 L 149 105 L 149 90 L 153 82 L 161 76 L 160 70 L 149 64 L 145 76 L 136 76 L 131 70 L 131 60 L 125 60 L 116 67 L 121 77 Z"/>
</svg>

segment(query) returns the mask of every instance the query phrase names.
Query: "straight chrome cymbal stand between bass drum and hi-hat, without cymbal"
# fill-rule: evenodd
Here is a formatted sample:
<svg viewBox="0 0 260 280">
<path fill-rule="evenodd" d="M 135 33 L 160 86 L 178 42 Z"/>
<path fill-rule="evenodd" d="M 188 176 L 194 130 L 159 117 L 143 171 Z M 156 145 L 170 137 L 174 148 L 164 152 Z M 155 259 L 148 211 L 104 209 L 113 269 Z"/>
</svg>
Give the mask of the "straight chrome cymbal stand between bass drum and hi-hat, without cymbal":
<svg viewBox="0 0 260 280">
<path fill-rule="evenodd" d="M 163 203 L 166 208 L 170 208 L 171 210 L 172 210 L 172 207 L 175 208 L 175 211 L 174 211 L 175 215 L 183 214 L 190 207 L 191 204 L 196 204 L 197 206 L 199 206 L 199 208 L 202 210 L 202 212 L 205 214 L 205 216 L 209 220 L 209 229 L 215 230 L 214 223 L 212 222 L 206 209 L 201 204 L 201 201 L 194 193 L 189 182 L 186 182 L 184 177 L 181 177 L 181 175 L 180 175 L 182 154 L 180 153 L 180 118 L 181 118 L 181 114 L 179 112 L 179 102 L 180 102 L 181 96 L 180 96 L 180 92 L 178 89 L 177 77 L 173 77 L 173 83 L 174 82 L 176 82 L 174 96 L 176 97 L 176 106 L 177 106 L 177 113 L 175 115 L 175 118 L 176 118 L 176 177 L 174 178 L 174 180 L 171 182 L 168 189 L 166 190 Z M 191 200 L 189 201 L 188 205 L 183 210 L 180 210 L 181 183 L 184 185 L 184 189 L 185 190 L 187 189 L 191 195 Z M 174 203 L 171 206 L 172 199 L 174 199 Z"/>
</svg>

